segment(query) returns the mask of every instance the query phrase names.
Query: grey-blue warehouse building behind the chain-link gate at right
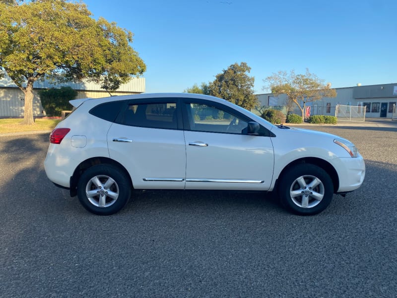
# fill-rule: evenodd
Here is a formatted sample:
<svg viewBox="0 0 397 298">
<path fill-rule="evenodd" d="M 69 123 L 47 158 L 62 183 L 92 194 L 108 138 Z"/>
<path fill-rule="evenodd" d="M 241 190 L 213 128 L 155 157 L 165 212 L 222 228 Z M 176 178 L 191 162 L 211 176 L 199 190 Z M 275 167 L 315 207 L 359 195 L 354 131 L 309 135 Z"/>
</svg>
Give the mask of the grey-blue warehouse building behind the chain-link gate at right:
<svg viewBox="0 0 397 298">
<path fill-rule="evenodd" d="M 393 107 L 397 102 L 397 83 L 366 85 L 357 84 L 354 87 L 335 88 L 336 97 L 324 97 L 318 101 L 308 102 L 311 107 L 311 115 L 335 115 L 335 107 L 338 104 L 366 107 L 366 117 L 392 118 Z M 276 95 L 272 93 L 257 94 L 262 106 L 283 106 L 287 103 L 286 94 Z M 302 103 L 303 106 L 303 103 Z M 300 115 L 297 107 L 294 113 Z"/>
</svg>

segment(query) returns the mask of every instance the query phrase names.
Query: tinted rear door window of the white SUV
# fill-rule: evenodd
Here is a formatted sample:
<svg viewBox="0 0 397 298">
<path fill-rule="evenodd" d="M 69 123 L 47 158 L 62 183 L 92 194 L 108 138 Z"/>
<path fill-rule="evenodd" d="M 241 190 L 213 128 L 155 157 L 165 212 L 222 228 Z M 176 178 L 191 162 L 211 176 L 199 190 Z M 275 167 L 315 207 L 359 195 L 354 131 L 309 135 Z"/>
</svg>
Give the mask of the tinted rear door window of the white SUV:
<svg viewBox="0 0 397 298">
<path fill-rule="evenodd" d="M 124 124 L 140 127 L 177 129 L 176 103 L 131 104 L 125 111 Z"/>
</svg>

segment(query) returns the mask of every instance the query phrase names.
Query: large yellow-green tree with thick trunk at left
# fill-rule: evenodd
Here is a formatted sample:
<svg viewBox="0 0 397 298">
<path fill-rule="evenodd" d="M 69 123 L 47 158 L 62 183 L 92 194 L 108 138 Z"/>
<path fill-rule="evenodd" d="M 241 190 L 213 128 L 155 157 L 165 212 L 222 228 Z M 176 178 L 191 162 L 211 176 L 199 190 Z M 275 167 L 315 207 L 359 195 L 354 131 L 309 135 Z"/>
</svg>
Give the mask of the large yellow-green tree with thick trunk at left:
<svg viewBox="0 0 397 298">
<path fill-rule="evenodd" d="M 33 83 L 95 81 L 116 90 L 146 65 L 133 50 L 132 33 L 104 18 L 97 21 L 82 2 L 0 1 L 0 73 L 25 94 L 24 124 L 33 124 Z"/>
</svg>

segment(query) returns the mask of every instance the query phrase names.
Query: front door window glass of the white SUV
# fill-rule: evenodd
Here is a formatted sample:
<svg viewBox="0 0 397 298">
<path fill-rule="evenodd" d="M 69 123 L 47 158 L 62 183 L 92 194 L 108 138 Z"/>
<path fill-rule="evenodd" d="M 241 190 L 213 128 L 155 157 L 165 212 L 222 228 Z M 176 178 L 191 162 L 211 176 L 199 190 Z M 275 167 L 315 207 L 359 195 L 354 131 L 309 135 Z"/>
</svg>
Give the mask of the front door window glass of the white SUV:
<svg viewBox="0 0 397 298">
<path fill-rule="evenodd" d="M 188 117 L 192 131 L 241 134 L 247 122 L 217 107 L 188 103 Z"/>
</svg>

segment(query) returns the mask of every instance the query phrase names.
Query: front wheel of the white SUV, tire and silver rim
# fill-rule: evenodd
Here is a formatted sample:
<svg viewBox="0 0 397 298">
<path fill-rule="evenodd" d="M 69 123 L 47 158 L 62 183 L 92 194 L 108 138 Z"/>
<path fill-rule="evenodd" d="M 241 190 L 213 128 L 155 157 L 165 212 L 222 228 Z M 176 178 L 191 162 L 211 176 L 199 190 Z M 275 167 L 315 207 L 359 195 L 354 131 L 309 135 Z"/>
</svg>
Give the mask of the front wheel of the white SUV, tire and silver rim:
<svg viewBox="0 0 397 298">
<path fill-rule="evenodd" d="M 298 215 L 315 215 L 330 205 L 333 183 L 323 168 L 300 163 L 283 173 L 278 194 L 281 204 L 289 211 Z"/>
</svg>

